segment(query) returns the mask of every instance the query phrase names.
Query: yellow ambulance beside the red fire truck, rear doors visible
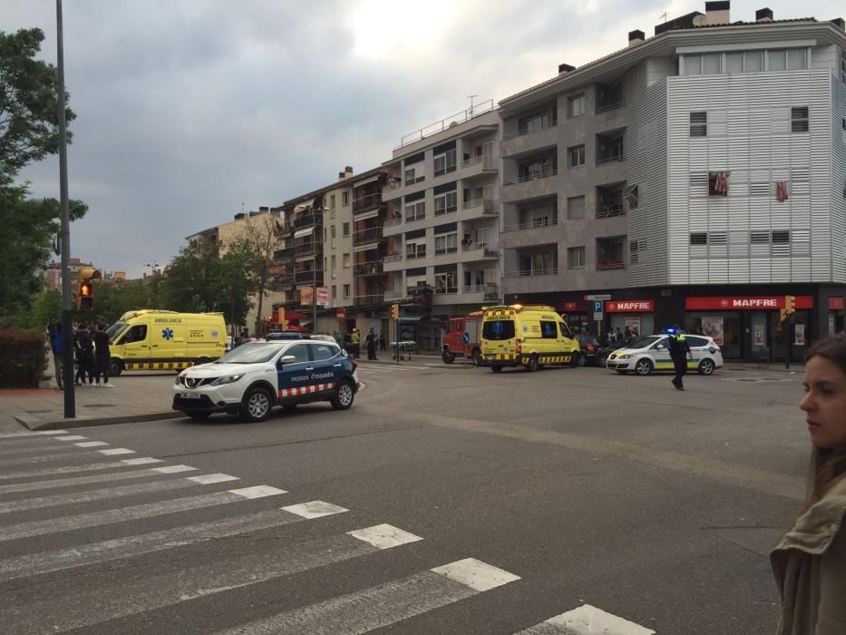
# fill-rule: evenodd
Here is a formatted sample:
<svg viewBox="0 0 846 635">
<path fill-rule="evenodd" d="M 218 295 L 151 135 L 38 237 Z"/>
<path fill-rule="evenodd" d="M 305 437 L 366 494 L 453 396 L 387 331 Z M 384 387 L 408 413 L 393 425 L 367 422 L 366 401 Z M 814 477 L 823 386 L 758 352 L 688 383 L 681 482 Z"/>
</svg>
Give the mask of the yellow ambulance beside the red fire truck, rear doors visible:
<svg viewBox="0 0 846 635">
<path fill-rule="evenodd" d="M 489 307 L 481 318 L 481 357 L 494 373 L 504 366 L 525 366 L 530 373 L 546 364 L 577 366 L 580 349 L 551 307 Z"/>
</svg>

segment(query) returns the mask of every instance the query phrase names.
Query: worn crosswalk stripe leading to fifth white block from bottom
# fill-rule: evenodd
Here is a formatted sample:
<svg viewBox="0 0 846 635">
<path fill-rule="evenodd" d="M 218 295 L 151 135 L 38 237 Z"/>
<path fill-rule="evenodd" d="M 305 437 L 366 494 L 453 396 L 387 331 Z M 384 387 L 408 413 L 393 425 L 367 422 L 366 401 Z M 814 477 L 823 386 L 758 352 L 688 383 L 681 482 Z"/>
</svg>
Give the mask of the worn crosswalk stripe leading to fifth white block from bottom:
<svg viewBox="0 0 846 635">
<path fill-rule="evenodd" d="M 275 489 L 275 488 L 271 488 Z M 277 490 L 281 493 L 282 490 Z M 272 495 L 266 493 L 264 495 Z M 152 518 L 163 516 L 167 513 L 189 512 L 190 510 L 213 507 L 227 503 L 238 503 L 243 501 L 245 496 L 231 492 L 204 493 L 198 496 L 187 496 L 175 498 L 160 503 L 144 503 L 132 507 L 104 510 L 102 512 L 80 513 L 75 516 L 63 516 L 46 521 L 33 521 L 30 523 L 18 523 L 7 525 L 3 532 L 0 532 L 0 542 L 27 538 L 29 536 L 41 536 L 45 533 L 70 532 L 74 529 L 87 527 L 99 527 L 104 524 L 125 523 L 126 521 L 137 521 L 141 518 Z"/>
</svg>

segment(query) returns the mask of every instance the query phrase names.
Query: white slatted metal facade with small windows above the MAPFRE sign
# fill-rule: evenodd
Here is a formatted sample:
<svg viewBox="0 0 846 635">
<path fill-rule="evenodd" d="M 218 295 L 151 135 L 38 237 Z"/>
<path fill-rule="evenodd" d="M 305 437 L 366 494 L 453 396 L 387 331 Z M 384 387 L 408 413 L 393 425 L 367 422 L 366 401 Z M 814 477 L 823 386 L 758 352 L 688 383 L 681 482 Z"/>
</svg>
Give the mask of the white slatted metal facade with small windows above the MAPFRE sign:
<svg viewBox="0 0 846 635">
<path fill-rule="evenodd" d="M 831 281 L 831 70 L 676 76 L 667 102 L 669 282 Z M 809 132 L 791 132 L 799 106 Z M 707 112 L 707 136 L 690 136 L 690 112 Z M 716 171 L 728 172 L 725 197 L 708 195 Z M 788 200 L 776 200 L 778 181 Z M 708 244 L 691 245 L 693 232 Z"/>
</svg>

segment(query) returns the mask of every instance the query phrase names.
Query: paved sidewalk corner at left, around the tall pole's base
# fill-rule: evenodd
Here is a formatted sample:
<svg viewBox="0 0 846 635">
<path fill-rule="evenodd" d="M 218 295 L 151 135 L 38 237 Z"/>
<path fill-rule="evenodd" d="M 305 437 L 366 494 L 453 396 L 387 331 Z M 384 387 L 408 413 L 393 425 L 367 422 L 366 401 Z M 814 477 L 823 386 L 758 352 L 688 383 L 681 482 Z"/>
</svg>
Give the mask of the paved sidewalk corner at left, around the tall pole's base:
<svg viewBox="0 0 846 635">
<path fill-rule="evenodd" d="M 182 416 L 170 408 L 173 375 L 113 377 L 114 388 L 75 389 L 73 419 L 64 416 L 64 395 L 56 388 L 0 389 L 0 434 L 88 425 L 154 421 Z"/>
</svg>

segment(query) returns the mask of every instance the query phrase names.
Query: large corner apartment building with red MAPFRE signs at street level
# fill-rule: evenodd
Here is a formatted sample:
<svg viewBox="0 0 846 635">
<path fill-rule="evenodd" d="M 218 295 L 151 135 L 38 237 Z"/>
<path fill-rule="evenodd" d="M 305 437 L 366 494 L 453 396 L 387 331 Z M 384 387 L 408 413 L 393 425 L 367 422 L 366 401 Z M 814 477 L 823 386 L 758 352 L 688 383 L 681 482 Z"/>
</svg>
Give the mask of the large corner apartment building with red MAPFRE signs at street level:
<svg viewBox="0 0 846 635">
<path fill-rule="evenodd" d="M 499 105 L 506 301 L 582 329 L 595 308 L 603 330 L 682 324 L 728 358 L 801 358 L 842 330 L 841 19 L 733 23 L 707 2 Z"/>
</svg>

